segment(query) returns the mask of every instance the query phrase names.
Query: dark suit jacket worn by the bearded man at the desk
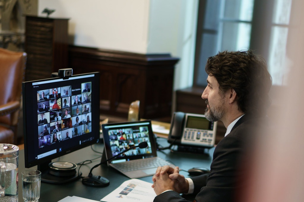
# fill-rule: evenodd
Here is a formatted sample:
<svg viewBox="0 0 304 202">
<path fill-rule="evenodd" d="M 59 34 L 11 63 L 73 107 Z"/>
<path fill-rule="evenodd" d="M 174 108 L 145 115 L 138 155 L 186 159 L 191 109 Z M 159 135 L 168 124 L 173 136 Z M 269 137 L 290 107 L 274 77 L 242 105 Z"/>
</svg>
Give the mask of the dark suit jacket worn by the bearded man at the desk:
<svg viewBox="0 0 304 202">
<path fill-rule="evenodd" d="M 262 118 L 242 116 L 231 132 L 219 141 L 210 166 L 210 174 L 191 177 L 197 202 L 235 201 L 235 194 L 243 174 L 240 161 L 250 152 L 250 139 L 255 136 L 255 129 L 265 123 Z M 253 143 L 252 143 L 253 144 Z M 243 183 L 243 182 L 242 182 Z M 175 191 L 164 192 L 155 197 L 154 202 L 186 201 Z"/>
</svg>

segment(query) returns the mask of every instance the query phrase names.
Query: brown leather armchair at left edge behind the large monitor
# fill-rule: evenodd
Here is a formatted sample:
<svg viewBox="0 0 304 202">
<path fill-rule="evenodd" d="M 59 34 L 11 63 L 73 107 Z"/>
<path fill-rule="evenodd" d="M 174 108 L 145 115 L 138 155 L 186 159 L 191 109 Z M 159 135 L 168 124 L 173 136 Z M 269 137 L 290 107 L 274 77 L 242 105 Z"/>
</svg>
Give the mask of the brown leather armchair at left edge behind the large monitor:
<svg viewBox="0 0 304 202">
<path fill-rule="evenodd" d="M 0 143 L 17 144 L 26 53 L 0 48 Z"/>
</svg>

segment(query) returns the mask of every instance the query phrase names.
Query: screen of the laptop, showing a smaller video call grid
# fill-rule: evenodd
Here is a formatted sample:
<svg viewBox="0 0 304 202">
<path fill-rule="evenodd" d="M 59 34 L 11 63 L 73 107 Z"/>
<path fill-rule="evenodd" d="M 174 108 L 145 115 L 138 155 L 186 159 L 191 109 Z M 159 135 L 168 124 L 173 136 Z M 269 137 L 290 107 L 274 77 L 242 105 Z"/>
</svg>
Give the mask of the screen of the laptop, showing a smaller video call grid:
<svg viewBox="0 0 304 202">
<path fill-rule="evenodd" d="M 137 146 L 141 142 L 148 143 L 147 148 L 134 148 L 119 155 L 109 163 L 119 163 L 157 156 L 155 138 L 150 120 L 102 124 L 102 133 L 107 159 L 132 146 Z"/>
</svg>

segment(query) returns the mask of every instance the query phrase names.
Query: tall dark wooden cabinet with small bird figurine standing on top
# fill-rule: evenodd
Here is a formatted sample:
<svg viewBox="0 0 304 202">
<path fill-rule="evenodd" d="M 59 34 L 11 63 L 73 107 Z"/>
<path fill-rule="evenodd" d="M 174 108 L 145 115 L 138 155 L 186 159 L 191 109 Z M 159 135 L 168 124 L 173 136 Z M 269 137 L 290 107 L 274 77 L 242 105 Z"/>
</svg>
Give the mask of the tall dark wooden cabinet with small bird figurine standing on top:
<svg viewBox="0 0 304 202">
<path fill-rule="evenodd" d="M 67 68 L 68 19 L 26 16 L 26 81 L 46 79 Z"/>
</svg>

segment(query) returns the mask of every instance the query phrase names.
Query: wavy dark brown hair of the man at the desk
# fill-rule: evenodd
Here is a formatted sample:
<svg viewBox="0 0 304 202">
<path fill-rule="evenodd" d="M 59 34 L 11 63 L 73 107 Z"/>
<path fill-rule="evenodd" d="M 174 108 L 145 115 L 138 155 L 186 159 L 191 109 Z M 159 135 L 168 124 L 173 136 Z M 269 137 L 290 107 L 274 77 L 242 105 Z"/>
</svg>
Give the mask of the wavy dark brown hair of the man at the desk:
<svg viewBox="0 0 304 202">
<path fill-rule="evenodd" d="M 208 58 L 205 70 L 216 78 L 220 93 L 235 90 L 242 112 L 264 113 L 270 105 L 268 92 L 272 79 L 266 61 L 252 50 L 219 52 Z"/>
</svg>

